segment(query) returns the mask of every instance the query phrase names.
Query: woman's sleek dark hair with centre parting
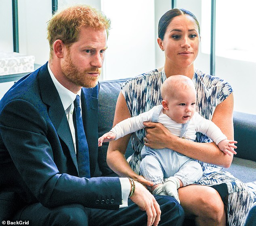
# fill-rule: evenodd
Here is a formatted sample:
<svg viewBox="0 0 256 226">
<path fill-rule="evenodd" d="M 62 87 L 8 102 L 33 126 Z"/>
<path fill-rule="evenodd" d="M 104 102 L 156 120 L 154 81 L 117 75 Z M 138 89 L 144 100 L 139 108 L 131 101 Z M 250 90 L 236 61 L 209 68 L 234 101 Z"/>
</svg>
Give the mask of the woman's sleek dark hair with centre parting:
<svg viewBox="0 0 256 226">
<path fill-rule="evenodd" d="M 185 15 L 185 14 L 191 16 L 195 20 L 195 23 L 197 24 L 198 32 L 199 32 L 199 35 L 200 35 L 200 25 L 199 25 L 195 15 L 192 12 L 190 12 L 189 10 L 185 10 L 183 8 L 181 8 L 181 9 L 174 8 L 174 9 L 171 9 L 171 10 L 167 11 L 160 18 L 159 23 L 158 23 L 158 37 L 160 39 L 164 40 L 164 34 L 166 32 L 166 28 L 168 27 L 168 25 L 170 24 L 172 19 L 176 16 Z"/>
</svg>

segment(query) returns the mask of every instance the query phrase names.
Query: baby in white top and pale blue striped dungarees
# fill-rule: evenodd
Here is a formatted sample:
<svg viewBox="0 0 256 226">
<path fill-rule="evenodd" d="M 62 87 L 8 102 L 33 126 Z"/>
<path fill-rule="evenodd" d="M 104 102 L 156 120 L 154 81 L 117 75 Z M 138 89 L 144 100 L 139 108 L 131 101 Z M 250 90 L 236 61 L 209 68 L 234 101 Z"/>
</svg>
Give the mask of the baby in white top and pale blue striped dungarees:
<svg viewBox="0 0 256 226">
<path fill-rule="evenodd" d="M 195 112 L 197 94 L 190 78 L 170 76 L 163 83 L 161 94 L 162 105 L 121 121 L 99 138 L 99 146 L 145 128 L 144 121 L 152 121 L 162 123 L 172 134 L 191 141 L 195 140 L 196 132 L 206 134 L 222 152 L 236 154 L 234 148 L 237 146 L 234 144 L 237 142 L 227 140 L 212 121 Z M 144 146 L 141 157 L 140 174 L 154 183 L 151 187 L 153 194 L 169 195 L 179 201 L 177 189 L 193 184 L 202 177 L 201 164 L 197 160 L 169 148 L 151 149 Z"/>
</svg>

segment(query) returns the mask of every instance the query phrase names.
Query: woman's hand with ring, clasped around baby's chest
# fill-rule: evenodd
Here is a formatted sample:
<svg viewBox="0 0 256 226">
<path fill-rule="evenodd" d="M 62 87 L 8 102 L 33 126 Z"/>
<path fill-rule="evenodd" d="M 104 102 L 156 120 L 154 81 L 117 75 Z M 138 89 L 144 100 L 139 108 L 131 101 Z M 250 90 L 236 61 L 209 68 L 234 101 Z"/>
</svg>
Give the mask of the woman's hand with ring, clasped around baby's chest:
<svg viewBox="0 0 256 226">
<path fill-rule="evenodd" d="M 160 149 L 170 146 L 170 141 L 176 136 L 171 134 L 161 123 L 143 122 L 146 135 L 144 138 L 145 146 Z"/>
</svg>

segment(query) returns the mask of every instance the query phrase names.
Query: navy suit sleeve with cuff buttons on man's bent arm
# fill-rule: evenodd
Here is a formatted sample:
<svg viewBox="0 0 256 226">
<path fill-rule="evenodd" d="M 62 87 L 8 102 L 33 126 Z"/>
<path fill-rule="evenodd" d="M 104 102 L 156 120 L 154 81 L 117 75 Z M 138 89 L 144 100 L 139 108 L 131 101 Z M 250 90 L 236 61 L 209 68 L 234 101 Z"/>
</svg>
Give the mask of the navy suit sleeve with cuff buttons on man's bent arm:
<svg viewBox="0 0 256 226">
<path fill-rule="evenodd" d="M 50 140 L 59 142 L 60 150 L 61 144 L 57 136 L 52 137 L 56 133 L 52 130 L 41 109 L 27 101 L 10 101 L 0 112 L 4 146 L 36 199 L 48 208 L 78 203 L 89 208 L 118 209 L 122 204 L 118 177 L 86 179 L 59 172 Z"/>
</svg>

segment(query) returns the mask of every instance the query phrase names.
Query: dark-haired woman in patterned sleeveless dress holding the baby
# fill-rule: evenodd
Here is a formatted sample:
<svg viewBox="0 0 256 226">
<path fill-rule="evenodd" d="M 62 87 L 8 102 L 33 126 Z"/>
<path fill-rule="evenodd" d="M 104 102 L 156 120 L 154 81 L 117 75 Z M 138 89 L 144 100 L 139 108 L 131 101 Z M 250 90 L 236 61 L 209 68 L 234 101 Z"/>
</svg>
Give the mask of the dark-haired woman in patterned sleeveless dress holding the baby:
<svg viewBox="0 0 256 226">
<path fill-rule="evenodd" d="M 191 78 L 195 84 L 197 112 L 212 120 L 227 139 L 233 140 L 233 90 L 230 84 L 194 69 L 193 63 L 200 42 L 200 27 L 196 17 L 184 9 L 169 10 L 159 21 L 157 42 L 165 52 L 164 68 L 142 74 L 122 84 L 113 124 L 161 104 L 160 87 L 164 80 L 169 76 L 182 74 Z M 159 123 L 145 122 L 145 126 L 146 135 L 143 130 L 132 134 L 135 152 L 129 163 L 124 154 L 130 135 L 110 142 L 107 162 L 113 171 L 152 186 L 151 182 L 137 174 L 141 161 L 140 151 L 144 144 L 151 148 L 167 147 L 195 158 L 202 165 L 203 179 L 199 181 L 199 185 L 178 189 L 180 204 L 186 214 L 195 216 L 197 225 L 226 225 L 227 212 L 229 225 L 243 225 L 247 211 L 252 206 L 250 193 L 241 181 L 230 173 L 221 171 L 221 167 L 231 165 L 233 156 L 225 155 L 202 134 L 197 135 L 197 142 L 191 142 L 170 134 Z M 200 185 L 214 185 L 215 189 Z"/>
</svg>

